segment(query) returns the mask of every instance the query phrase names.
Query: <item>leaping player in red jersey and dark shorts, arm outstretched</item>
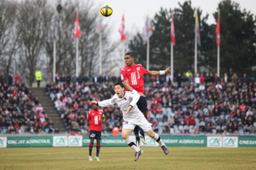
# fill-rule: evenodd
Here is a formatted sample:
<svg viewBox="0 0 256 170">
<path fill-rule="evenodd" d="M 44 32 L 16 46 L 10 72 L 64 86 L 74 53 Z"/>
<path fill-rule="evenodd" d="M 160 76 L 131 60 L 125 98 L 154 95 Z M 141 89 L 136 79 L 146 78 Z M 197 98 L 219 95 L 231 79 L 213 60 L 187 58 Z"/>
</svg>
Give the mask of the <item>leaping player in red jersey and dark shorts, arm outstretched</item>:
<svg viewBox="0 0 256 170">
<path fill-rule="evenodd" d="M 158 76 L 167 74 L 171 69 L 170 67 L 166 68 L 165 70 L 160 71 L 150 71 L 142 67 L 141 64 L 134 64 L 134 54 L 133 53 L 126 53 L 124 55 L 124 60 L 126 66 L 121 69 L 121 79 L 125 86 L 125 91 L 132 91 L 133 93 L 140 94 L 140 99 L 137 103 L 139 110 L 147 117 L 147 102 L 144 95 L 144 80 L 143 75 L 148 76 Z M 136 136 L 136 144 L 140 146 L 140 138 L 143 143 L 146 144 L 144 131 L 139 127 L 136 126 L 134 128 L 134 134 Z"/>
</svg>

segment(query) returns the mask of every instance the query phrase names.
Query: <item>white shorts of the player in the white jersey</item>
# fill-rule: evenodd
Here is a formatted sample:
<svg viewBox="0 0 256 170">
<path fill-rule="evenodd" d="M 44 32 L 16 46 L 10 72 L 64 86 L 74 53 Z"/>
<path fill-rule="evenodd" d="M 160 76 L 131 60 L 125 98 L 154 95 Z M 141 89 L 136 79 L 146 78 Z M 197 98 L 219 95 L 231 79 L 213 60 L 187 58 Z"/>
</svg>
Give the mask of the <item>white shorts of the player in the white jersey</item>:
<svg viewBox="0 0 256 170">
<path fill-rule="evenodd" d="M 136 118 L 123 119 L 123 128 L 122 129 L 132 129 L 134 130 L 135 126 L 138 125 L 144 132 L 147 132 L 152 129 L 151 123 L 147 122 L 147 119 L 141 115 Z"/>
</svg>

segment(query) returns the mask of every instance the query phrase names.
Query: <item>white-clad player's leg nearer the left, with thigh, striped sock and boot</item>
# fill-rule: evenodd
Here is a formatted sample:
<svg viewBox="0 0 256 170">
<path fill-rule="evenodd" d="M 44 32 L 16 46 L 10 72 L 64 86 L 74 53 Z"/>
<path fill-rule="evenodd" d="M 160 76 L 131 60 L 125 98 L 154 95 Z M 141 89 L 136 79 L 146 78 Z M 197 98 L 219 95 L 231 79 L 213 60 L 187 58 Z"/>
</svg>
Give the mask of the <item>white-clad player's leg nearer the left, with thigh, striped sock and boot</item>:
<svg viewBox="0 0 256 170">
<path fill-rule="evenodd" d="M 125 142 L 131 147 L 135 153 L 135 159 L 134 161 L 138 160 L 140 158 L 140 155 L 143 153 L 142 150 L 137 147 L 137 145 L 133 142 L 132 137 L 130 137 L 130 133 L 132 132 L 132 129 L 122 129 L 122 138 L 125 140 Z"/>
</svg>

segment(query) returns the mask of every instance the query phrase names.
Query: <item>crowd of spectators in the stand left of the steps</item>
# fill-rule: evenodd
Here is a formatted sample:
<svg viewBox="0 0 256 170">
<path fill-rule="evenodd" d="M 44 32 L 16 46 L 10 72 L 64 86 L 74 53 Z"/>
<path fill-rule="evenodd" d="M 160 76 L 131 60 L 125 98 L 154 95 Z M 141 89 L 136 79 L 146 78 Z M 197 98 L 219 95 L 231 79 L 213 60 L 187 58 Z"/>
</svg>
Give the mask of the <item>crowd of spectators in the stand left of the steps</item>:
<svg viewBox="0 0 256 170">
<path fill-rule="evenodd" d="M 0 133 L 58 133 L 44 108 L 21 81 L 18 72 L 0 76 Z"/>
</svg>

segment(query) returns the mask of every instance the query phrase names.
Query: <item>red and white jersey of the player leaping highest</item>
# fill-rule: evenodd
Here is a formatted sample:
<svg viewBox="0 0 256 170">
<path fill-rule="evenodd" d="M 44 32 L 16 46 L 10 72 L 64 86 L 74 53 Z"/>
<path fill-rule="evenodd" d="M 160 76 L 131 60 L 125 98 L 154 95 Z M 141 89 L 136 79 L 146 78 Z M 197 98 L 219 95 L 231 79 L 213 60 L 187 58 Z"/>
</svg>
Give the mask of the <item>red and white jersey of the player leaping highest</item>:
<svg viewBox="0 0 256 170">
<path fill-rule="evenodd" d="M 121 79 L 122 81 L 129 79 L 129 84 L 133 87 L 133 89 L 144 93 L 143 75 L 146 75 L 147 72 L 148 70 L 142 67 L 140 64 L 134 64 L 133 67 L 126 65 L 121 69 Z M 125 91 L 129 90 L 125 89 Z"/>
</svg>

